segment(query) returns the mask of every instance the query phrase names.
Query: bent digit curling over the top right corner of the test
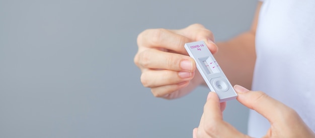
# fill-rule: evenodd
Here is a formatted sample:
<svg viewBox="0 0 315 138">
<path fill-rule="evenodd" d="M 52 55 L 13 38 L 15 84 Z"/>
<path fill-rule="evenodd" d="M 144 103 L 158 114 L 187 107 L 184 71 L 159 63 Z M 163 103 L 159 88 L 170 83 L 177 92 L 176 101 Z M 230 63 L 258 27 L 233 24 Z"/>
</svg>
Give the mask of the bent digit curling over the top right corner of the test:
<svg viewBox="0 0 315 138">
<path fill-rule="evenodd" d="M 218 51 L 218 47 L 214 44 L 213 33 L 203 25 L 193 24 L 181 30 L 174 30 L 174 32 L 186 36 L 193 41 L 204 41 L 212 54 Z"/>
</svg>

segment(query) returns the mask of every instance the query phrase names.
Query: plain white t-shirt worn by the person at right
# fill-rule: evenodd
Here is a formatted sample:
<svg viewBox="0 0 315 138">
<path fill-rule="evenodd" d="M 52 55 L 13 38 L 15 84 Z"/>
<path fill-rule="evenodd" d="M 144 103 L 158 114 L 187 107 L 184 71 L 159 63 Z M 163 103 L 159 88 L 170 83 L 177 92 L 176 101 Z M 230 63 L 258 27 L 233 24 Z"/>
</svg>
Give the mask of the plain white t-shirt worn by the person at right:
<svg viewBox="0 0 315 138">
<path fill-rule="evenodd" d="M 315 131 L 315 1 L 265 0 L 256 34 L 253 90 L 261 90 L 295 109 Z M 251 110 L 249 135 L 270 127 Z"/>
</svg>

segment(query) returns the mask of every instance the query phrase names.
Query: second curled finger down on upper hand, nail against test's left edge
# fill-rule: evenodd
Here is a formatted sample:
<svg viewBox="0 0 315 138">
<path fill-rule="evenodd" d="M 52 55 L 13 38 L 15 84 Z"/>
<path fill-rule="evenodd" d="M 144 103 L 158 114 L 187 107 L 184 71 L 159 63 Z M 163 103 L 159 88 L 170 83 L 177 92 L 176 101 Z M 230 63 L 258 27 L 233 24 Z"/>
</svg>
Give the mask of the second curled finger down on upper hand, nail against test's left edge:
<svg viewBox="0 0 315 138">
<path fill-rule="evenodd" d="M 135 63 L 144 68 L 168 69 L 173 71 L 193 72 L 195 61 L 185 55 L 163 52 L 156 49 L 145 50 L 135 57 Z"/>
</svg>

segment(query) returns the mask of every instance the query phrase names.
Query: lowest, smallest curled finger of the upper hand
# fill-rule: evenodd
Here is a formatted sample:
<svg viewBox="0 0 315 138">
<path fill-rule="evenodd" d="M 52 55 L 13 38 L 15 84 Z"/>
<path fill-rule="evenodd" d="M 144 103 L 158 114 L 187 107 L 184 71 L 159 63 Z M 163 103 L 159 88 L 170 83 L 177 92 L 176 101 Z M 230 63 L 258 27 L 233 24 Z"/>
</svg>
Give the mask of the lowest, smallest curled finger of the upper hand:
<svg viewBox="0 0 315 138">
<path fill-rule="evenodd" d="M 182 93 L 178 93 L 178 90 L 186 87 L 188 84 L 189 84 L 189 81 L 184 81 L 178 84 L 154 87 L 154 88 L 151 88 L 151 92 L 155 97 L 163 97 L 166 99 L 172 99 L 173 97 L 181 97 Z M 177 95 L 171 95 L 171 94 L 177 94 Z"/>
</svg>

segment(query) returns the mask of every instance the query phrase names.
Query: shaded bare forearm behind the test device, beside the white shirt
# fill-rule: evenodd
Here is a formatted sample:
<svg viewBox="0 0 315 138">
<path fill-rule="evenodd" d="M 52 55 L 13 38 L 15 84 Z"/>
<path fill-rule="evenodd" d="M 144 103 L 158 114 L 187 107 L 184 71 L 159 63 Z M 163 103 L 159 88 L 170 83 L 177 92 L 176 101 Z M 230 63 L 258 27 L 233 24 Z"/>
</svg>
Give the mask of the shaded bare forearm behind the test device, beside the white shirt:
<svg viewBox="0 0 315 138">
<path fill-rule="evenodd" d="M 219 50 L 213 56 L 230 83 L 251 89 L 256 61 L 255 33 L 249 31 L 216 45 Z"/>
</svg>

